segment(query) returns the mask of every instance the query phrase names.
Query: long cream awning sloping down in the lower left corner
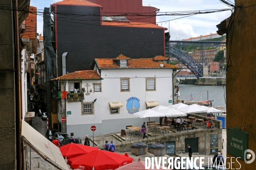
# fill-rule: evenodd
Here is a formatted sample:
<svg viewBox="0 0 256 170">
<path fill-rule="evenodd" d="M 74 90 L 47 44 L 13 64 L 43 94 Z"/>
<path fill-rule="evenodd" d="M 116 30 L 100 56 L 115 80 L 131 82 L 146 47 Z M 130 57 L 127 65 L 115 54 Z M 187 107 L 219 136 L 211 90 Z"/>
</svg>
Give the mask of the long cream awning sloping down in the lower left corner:
<svg viewBox="0 0 256 170">
<path fill-rule="evenodd" d="M 24 120 L 22 120 L 21 125 L 21 136 L 24 136 L 39 152 L 42 153 L 42 155 L 51 159 L 52 162 L 60 165 L 65 170 L 70 170 L 67 167 L 67 163 L 65 162 L 60 149 Z"/>
</svg>

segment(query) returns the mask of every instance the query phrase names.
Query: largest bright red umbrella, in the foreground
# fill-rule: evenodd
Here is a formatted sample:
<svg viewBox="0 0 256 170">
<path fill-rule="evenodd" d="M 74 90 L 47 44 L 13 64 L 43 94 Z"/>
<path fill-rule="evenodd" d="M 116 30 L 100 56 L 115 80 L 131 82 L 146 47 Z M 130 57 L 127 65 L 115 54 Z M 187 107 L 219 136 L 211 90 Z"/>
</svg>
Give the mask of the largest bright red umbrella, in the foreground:
<svg viewBox="0 0 256 170">
<path fill-rule="evenodd" d="M 119 153 L 96 150 L 75 158 L 69 159 L 67 164 L 71 169 L 80 170 L 112 170 L 125 164 L 130 164 L 134 159 Z"/>
</svg>

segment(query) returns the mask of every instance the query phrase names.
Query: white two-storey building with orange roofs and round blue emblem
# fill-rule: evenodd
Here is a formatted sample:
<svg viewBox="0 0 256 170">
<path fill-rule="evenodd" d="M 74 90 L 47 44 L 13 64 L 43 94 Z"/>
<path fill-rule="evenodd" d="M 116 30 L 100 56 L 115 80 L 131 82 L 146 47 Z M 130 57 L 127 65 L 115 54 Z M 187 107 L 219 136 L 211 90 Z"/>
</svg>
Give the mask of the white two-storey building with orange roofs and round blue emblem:
<svg viewBox="0 0 256 170">
<path fill-rule="evenodd" d="M 167 60 L 162 56 L 130 59 L 121 54 L 114 59 L 95 59 L 93 70 L 76 71 L 54 79 L 66 81 L 65 88 L 69 91 L 67 133 L 92 135 L 92 125 L 97 128 L 95 135 L 117 132 L 128 125 L 141 126 L 148 118 L 140 119 L 133 113 L 157 105 L 172 105 L 172 72 L 179 68 L 166 64 Z M 76 91 L 81 88 L 83 93 Z M 59 122 L 60 119 L 58 114 Z"/>
</svg>

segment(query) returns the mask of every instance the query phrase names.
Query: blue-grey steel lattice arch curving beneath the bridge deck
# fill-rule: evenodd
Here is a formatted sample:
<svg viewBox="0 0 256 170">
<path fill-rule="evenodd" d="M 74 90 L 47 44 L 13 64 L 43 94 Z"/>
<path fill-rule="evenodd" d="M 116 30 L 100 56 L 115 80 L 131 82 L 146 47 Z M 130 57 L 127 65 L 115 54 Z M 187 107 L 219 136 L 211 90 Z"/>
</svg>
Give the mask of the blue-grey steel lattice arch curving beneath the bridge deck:
<svg viewBox="0 0 256 170">
<path fill-rule="evenodd" d="M 180 60 L 196 77 L 204 77 L 203 65 L 193 59 L 188 54 L 170 45 L 170 54 Z"/>
</svg>

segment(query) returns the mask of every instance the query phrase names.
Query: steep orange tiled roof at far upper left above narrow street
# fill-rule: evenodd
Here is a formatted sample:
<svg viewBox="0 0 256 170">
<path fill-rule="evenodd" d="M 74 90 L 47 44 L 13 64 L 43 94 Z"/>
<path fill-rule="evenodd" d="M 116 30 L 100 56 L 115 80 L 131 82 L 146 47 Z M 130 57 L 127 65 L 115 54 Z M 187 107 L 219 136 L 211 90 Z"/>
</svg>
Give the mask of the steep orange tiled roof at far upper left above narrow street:
<svg viewBox="0 0 256 170">
<path fill-rule="evenodd" d="M 29 38 L 32 40 L 32 52 L 34 54 L 37 53 L 36 14 L 36 7 L 29 6 L 29 15 L 25 19 L 25 30 L 22 34 L 23 38 Z"/>
</svg>

